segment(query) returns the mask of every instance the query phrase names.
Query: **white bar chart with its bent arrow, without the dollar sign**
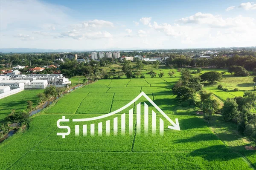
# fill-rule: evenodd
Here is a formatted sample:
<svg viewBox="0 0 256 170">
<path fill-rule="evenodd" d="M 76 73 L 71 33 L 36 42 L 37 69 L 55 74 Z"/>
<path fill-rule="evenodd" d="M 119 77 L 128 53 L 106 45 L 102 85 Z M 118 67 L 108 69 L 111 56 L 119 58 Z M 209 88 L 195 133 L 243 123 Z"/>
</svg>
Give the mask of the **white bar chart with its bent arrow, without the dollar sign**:
<svg viewBox="0 0 256 170">
<path fill-rule="evenodd" d="M 162 118 L 164 117 L 168 120 L 168 124 L 171 124 L 172 126 L 168 125 L 167 128 L 173 129 L 173 130 L 180 130 L 180 125 L 177 118 L 175 119 L 175 123 L 174 123 L 174 121 L 172 121 L 144 92 L 141 92 L 140 95 L 134 98 L 134 100 L 132 100 L 131 102 L 126 104 L 124 107 L 121 107 L 120 109 L 117 109 L 114 112 L 111 112 L 105 115 L 100 115 L 97 117 L 92 117 L 92 118 L 73 119 L 73 122 L 84 122 L 81 128 L 79 127 L 79 125 L 75 125 L 75 135 L 79 136 L 82 134 L 83 136 L 87 136 L 87 135 L 94 136 L 97 134 L 101 136 L 103 133 L 106 136 L 109 136 L 111 133 L 113 133 L 113 135 L 118 135 L 118 133 L 121 133 L 122 135 L 126 135 L 126 133 L 128 133 L 129 135 L 132 135 L 134 132 L 134 129 L 136 129 L 136 133 L 138 134 L 140 134 L 141 130 L 143 129 L 144 134 L 148 134 L 150 132 L 154 135 L 156 134 L 157 131 L 159 131 L 159 134 L 163 135 L 164 134 L 163 119 L 157 118 L 157 114 L 156 112 L 154 112 L 153 109 L 150 110 L 151 114 L 149 114 L 149 107 L 145 102 L 144 102 L 143 112 L 141 112 L 142 104 L 139 103 L 136 105 L 135 114 L 134 114 L 134 108 L 129 109 L 128 113 L 122 113 L 124 109 L 134 104 L 141 97 L 145 97 L 147 101 L 150 104 L 152 104 L 153 107 L 157 109 L 157 111 L 160 112 L 161 115 L 163 115 Z M 116 114 L 116 117 L 113 116 L 115 114 Z M 106 120 L 109 117 L 111 118 L 109 120 Z M 128 121 L 127 121 L 127 118 L 128 118 Z M 105 120 L 100 121 L 100 119 L 105 119 Z M 98 122 L 94 124 L 87 124 L 88 121 L 94 121 L 94 120 L 98 120 Z M 134 120 L 136 121 L 136 124 L 134 124 L 135 123 Z M 90 128 L 90 131 L 87 130 L 89 128 Z M 81 129 L 82 129 L 82 132 L 79 132 Z M 57 135 L 61 135 L 61 133 Z"/>
</svg>

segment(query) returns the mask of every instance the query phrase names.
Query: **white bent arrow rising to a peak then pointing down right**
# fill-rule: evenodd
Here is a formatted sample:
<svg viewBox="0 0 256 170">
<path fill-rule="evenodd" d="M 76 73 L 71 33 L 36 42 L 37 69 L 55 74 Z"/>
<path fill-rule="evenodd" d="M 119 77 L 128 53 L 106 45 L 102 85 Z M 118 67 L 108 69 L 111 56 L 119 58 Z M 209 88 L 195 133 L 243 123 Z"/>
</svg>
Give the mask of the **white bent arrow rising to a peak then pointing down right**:
<svg viewBox="0 0 256 170">
<path fill-rule="evenodd" d="M 161 110 L 155 103 L 154 101 L 152 101 L 144 92 L 141 92 L 140 95 L 138 95 L 136 98 L 134 98 L 132 101 L 130 101 L 128 104 L 126 104 L 125 106 L 121 107 L 120 109 L 117 109 L 111 113 L 105 114 L 105 115 L 101 115 L 101 116 L 97 116 L 97 117 L 93 117 L 93 118 L 79 118 L 79 119 L 73 119 L 73 122 L 77 122 L 77 121 L 93 121 L 93 120 L 98 120 L 98 119 L 102 119 L 102 118 L 106 118 L 108 116 L 114 115 L 118 112 L 121 112 L 122 110 L 126 109 L 127 107 L 131 106 L 132 104 L 134 104 L 135 101 L 137 101 L 140 97 L 144 96 L 171 124 L 172 126 L 168 126 L 169 129 L 173 129 L 173 130 L 180 130 L 180 125 L 179 125 L 179 121 L 177 118 L 175 118 L 175 122 L 172 121 L 164 112 L 163 110 Z"/>
</svg>

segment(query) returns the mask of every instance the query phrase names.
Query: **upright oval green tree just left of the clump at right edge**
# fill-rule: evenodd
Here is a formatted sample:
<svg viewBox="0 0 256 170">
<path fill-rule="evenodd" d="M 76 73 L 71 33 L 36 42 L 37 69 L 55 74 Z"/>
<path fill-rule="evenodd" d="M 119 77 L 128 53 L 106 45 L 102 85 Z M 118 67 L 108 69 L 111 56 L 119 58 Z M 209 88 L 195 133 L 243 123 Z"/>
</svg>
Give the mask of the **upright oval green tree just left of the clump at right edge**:
<svg viewBox="0 0 256 170">
<path fill-rule="evenodd" d="M 236 103 L 236 99 L 227 98 L 224 102 L 223 108 L 221 109 L 221 114 L 223 115 L 224 120 L 232 121 L 233 118 L 238 117 L 239 111 L 237 107 L 238 104 Z"/>
</svg>

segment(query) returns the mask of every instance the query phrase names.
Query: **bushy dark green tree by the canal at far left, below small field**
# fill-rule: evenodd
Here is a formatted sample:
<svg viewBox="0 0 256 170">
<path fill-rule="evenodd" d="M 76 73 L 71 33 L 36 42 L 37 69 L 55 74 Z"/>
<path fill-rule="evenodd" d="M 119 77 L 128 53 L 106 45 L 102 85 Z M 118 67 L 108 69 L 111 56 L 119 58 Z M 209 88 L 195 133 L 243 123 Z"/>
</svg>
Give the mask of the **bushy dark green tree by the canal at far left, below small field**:
<svg viewBox="0 0 256 170">
<path fill-rule="evenodd" d="M 15 110 L 12 110 L 11 114 L 8 116 L 8 120 L 16 124 L 16 127 L 19 128 L 22 125 L 29 125 L 29 113 L 27 113 L 25 110 L 23 112 L 16 112 Z"/>
</svg>

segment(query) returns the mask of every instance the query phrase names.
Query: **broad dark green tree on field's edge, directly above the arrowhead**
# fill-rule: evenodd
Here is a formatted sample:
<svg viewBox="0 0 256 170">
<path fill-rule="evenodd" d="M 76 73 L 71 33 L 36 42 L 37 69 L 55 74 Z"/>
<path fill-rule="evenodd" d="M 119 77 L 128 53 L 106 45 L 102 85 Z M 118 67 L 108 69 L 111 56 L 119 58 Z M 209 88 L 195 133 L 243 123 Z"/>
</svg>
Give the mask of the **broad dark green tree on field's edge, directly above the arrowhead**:
<svg viewBox="0 0 256 170">
<path fill-rule="evenodd" d="M 194 98 L 195 90 L 186 86 L 179 86 L 172 88 L 173 94 L 181 101 L 186 101 L 189 98 Z"/>
</svg>

